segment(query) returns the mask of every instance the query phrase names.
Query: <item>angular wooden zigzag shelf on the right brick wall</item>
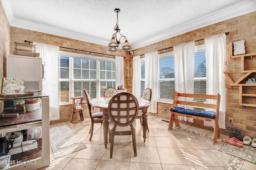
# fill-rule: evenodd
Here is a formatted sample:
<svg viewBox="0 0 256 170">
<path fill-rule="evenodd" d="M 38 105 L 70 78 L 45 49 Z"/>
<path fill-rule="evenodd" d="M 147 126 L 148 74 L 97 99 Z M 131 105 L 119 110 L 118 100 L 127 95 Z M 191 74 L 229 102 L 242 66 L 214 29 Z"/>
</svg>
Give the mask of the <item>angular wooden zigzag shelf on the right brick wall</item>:
<svg viewBox="0 0 256 170">
<path fill-rule="evenodd" d="M 238 59 L 241 58 L 241 73 L 246 73 L 244 76 L 242 76 L 238 81 L 234 82 L 230 75 L 227 72 L 224 72 L 225 76 L 228 78 L 231 84 L 229 86 L 239 86 L 239 105 L 240 106 L 250 106 L 250 107 L 256 107 L 256 104 L 246 104 L 243 103 L 243 97 L 256 97 L 256 94 L 246 94 L 243 93 L 243 87 L 244 86 L 256 86 L 256 84 L 244 84 L 241 83 L 243 80 L 248 78 L 251 74 L 255 73 L 256 70 L 244 70 L 244 59 L 246 57 L 251 57 L 256 56 L 256 53 L 247 53 L 247 54 L 242 54 L 242 55 L 235 55 L 233 56 L 233 43 L 230 42 L 230 59 Z"/>
</svg>

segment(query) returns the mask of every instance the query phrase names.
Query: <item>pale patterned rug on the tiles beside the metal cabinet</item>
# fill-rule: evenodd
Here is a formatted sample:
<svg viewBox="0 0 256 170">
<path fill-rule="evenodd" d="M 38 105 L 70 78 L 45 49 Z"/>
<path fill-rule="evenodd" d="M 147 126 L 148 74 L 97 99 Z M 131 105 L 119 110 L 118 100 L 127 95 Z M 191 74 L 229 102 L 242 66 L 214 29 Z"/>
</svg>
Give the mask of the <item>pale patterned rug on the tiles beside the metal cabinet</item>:
<svg viewBox="0 0 256 170">
<path fill-rule="evenodd" d="M 50 146 L 54 159 L 87 148 L 67 125 L 50 128 Z"/>
</svg>

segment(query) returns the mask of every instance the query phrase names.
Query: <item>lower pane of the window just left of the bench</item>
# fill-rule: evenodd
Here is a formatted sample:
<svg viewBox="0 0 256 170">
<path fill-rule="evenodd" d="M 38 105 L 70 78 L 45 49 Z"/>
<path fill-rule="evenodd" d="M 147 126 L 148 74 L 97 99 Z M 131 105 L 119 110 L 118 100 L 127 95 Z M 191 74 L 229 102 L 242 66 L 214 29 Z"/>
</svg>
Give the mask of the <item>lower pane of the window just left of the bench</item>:
<svg viewBox="0 0 256 170">
<path fill-rule="evenodd" d="M 174 98 L 175 85 L 174 81 L 159 82 L 160 84 L 160 98 L 161 99 L 171 99 Z"/>
</svg>

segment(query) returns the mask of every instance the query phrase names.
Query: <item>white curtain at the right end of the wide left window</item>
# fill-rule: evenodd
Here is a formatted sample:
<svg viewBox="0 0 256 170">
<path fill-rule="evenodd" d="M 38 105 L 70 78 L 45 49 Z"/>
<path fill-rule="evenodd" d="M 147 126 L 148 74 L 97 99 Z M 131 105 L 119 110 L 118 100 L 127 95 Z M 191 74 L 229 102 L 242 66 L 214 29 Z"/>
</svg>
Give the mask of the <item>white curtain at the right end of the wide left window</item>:
<svg viewBox="0 0 256 170">
<path fill-rule="evenodd" d="M 124 88 L 124 57 L 116 56 L 116 86 Z"/>
</svg>

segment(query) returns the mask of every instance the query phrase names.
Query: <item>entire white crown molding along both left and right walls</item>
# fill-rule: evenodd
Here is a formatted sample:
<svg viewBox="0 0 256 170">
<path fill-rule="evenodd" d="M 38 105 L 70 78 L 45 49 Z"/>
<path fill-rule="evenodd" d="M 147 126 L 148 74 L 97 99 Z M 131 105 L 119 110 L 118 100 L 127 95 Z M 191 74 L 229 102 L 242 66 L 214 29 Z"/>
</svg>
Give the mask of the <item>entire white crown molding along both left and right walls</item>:
<svg viewBox="0 0 256 170">
<path fill-rule="evenodd" d="M 32 21 L 28 21 L 20 18 L 14 18 L 12 13 L 12 8 L 10 5 L 10 0 L 4 0 L 2 1 L 2 4 L 6 12 L 8 21 L 10 23 L 10 26 L 29 29 L 32 31 L 39 31 L 39 32 L 48 33 L 52 35 L 58 35 L 58 36 L 67 37 L 70 39 L 76 39 L 80 41 L 86 41 L 88 43 L 94 43 L 94 44 L 103 45 L 103 46 L 107 46 L 107 44 L 109 43 L 109 40 L 106 40 L 106 39 L 99 39 L 98 37 L 85 35 L 79 32 L 74 32 L 74 31 L 62 29 L 59 27 L 53 27 L 49 25 L 44 25 L 42 23 L 32 22 Z M 198 20 L 196 21 L 193 21 L 193 22 L 191 21 L 190 23 L 184 23 L 183 25 L 178 25 L 173 29 L 158 33 L 155 36 L 150 36 L 151 38 L 144 39 L 143 42 L 132 44 L 131 50 L 138 49 L 153 43 L 157 43 L 159 41 L 163 41 L 165 39 L 169 39 L 171 37 L 175 37 L 177 35 L 181 35 L 189 31 L 193 31 L 195 29 L 199 29 L 214 23 L 218 23 L 220 21 L 228 20 L 236 16 L 241 16 L 243 14 L 254 12 L 255 9 L 256 9 L 256 3 L 254 0 L 244 3 L 242 5 L 237 4 L 236 6 L 233 6 L 232 8 L 229 8 L 224 12 L 220 12 L 215 15 L 212 15 L 212 14 L 207 15 L 202 18 L 198 18 Z"/>
</svg>

